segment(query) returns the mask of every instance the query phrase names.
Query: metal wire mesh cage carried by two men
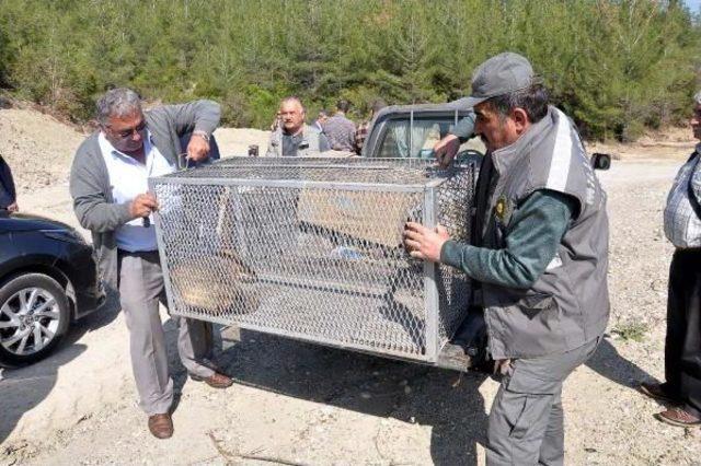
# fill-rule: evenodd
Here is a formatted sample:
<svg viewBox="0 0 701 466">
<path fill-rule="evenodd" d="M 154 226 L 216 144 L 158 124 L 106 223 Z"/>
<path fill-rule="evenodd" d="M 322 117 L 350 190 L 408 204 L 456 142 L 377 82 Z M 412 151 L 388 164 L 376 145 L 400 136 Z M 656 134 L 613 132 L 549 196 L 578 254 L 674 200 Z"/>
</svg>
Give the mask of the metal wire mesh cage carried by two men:
<svg viewBox="0 0 701 466">
<path fill-rule="evenodd" d="M 171 313 L 435 362 L 467 276 L 411 258 L 406 221 L 468 241 L 475 166 L 228 159 L 149 180 Z"/>
</svg>

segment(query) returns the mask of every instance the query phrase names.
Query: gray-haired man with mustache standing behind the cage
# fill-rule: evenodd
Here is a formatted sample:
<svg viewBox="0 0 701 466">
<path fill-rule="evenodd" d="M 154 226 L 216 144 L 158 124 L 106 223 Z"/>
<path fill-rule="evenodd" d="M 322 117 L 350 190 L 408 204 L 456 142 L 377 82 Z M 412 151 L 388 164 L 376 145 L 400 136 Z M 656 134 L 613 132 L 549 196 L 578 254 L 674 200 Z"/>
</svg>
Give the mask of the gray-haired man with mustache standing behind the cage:
<svg viewBox="0 0 701 466">
<path fill-rule="evenodd" d="M 285 97 L 277 113 L 280 125 L 271 133 L 267 156 L 313 156 L 329 150 L 329 140 L 304 124 L 307 113 L 297 97 Z"/>
</svg>

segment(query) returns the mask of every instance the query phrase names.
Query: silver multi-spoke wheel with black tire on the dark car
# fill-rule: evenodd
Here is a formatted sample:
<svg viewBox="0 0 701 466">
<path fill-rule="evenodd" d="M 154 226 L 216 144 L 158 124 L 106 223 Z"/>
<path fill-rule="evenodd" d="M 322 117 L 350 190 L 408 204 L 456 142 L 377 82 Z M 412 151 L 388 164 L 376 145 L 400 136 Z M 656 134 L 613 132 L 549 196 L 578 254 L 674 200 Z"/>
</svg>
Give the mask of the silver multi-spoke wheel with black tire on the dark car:
<svg viewBox="0 0 701 466">
<path fill-rule="evenodd" d="M 0 365 L 45 358 L 68 329 L 66 291 L 43 273 L 14 277 L 0 287 Z"/>
</svg>

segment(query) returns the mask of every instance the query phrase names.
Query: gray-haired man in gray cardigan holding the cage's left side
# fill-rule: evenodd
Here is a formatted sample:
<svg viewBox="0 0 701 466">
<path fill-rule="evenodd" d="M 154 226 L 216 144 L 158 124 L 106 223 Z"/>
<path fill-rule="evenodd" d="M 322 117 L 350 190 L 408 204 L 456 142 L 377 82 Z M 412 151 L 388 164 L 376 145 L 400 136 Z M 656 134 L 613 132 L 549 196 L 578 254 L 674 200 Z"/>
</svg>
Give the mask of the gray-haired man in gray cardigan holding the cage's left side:
<svg viewBox="0 0 701 466">
<path fill-rule="evenodd" d="M 78 148 L 70 172 L 73 210 L 92 233 L 103 283 L 119 293 L 140 406 L 159 439 L 173 434 L 173 380 L 159 315 L 159 302 L 165 304 L 163 275 L 149 220 L 158 200 L 148 191 L 148 178 L 177 167 L 179 138 L 188 132 L 187 158 L 206 159 L 219 115 L 219 105 L 210 101 L 145 113 L 134 91 L 113 89 L 97 101 L 100 129 Z M 216 388 L 230 386 L 231 378 L 206 364 L 210 326 L 172 319 L 179 327 L 177 351 L 191 376 Z"/>
</svg>

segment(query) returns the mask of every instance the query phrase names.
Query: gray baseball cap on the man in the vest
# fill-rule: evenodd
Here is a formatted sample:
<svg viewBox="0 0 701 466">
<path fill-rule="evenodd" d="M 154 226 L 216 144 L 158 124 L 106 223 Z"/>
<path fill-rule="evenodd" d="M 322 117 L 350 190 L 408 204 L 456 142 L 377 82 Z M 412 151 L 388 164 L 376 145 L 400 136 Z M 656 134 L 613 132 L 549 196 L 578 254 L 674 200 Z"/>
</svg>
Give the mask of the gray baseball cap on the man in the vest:
<svg viewBox="0 0 701 466">
<path fill-rule="evenodd" d="M 497 95 L 526 89 L 533 83 L 533 68 L 528 59 L 505 51 L 480 65 L 472 74 L 472 94 L 466 100 L 469 107 Z"/>
</svg>

